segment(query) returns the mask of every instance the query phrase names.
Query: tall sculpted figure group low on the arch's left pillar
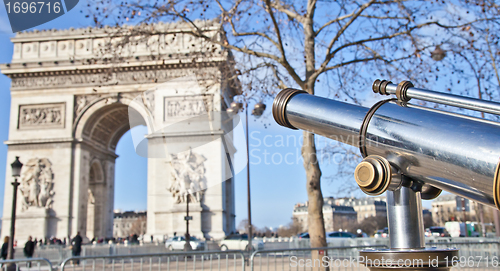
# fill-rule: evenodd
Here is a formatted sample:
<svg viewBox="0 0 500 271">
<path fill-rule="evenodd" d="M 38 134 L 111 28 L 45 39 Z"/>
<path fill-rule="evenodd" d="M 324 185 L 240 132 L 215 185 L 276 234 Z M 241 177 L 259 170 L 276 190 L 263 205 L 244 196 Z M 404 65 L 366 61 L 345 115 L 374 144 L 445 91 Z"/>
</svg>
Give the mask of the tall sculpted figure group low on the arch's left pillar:
<svg viewBox="0 0 500 271">
<path fill-rule="evenodd" d="M 19 190 L 22 194 L 22 210 L 30 207 L 52 207 L 54 174 L 52 163 L 47 158 L 32 158 L 24 166 L 21 173 Z"/>
</svg>

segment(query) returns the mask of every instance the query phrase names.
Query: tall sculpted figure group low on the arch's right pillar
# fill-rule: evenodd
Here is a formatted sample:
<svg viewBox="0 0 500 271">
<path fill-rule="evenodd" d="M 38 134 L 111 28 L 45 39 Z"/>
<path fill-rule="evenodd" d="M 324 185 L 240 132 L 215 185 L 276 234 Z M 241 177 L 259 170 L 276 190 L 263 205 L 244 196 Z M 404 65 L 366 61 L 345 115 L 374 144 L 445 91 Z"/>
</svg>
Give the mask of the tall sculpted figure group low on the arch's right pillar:
<svg viewBox="0 0 500 271">
<path fill-rule="evenodd" d="M 172 184 L 169 191 L 175 199 L 175 203 L 201 202 L 207 180 L 205 178 L 205 161 L 203 155 L 191 150 L 172 154 L 170 164 L 172 165 Z"/>
</svg>

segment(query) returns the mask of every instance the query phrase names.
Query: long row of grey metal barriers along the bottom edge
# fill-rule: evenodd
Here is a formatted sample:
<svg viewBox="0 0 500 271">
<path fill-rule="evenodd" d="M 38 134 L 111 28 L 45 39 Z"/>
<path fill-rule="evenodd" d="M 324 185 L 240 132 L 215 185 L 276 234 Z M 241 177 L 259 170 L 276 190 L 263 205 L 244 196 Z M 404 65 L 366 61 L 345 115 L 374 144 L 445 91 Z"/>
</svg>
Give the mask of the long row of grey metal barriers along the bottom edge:
<svg viewBox="0 0 500 271">
<path fill-rule="evenodd" d="M 427 247 L 457 248 L 460 251 L 459 262 L 453 270 L 499 270 L 500 268 L 500 240 L 478 240 L 463 238 L 464 242 L 450 242 L 451 239 L 432 239 L 426 243 Z M 113 246 L 97 246 L 87 248 L 93 254 L 81 257 L 67 257 L 64 260 L 47 258 L 15 259 L 0 261 L 0 271 L 11 271 L 8 263 L 15 264 L 16 271 L 52 271 L 61 268 L 61 271 L 162 271 L 162 270 L 312 270 L 309 265 L 312 261 L 312 252 L 318 251 L 328 256 L 329 270 L 368 270 L 358 263 L 359 251 L 368 248 L 387 248 L 386 245 L 336 246 L 324 248 L 284 247 L 285 242 L 275 242 L 272 247 L 266 243 L 265 250 L 256 251 L 251 255 L 242 251 L 197 251 L 197 252 L 165 252 L 165 253 L 134 253 L 137 248 L 130 250 L 122 248 L 125 254 L 116 255 L 117 249 Z M 364 240 L 356 243 L 364 244 Z M 304 242 L 289 242 L 297 246 Z M 53 249 L 53 248 L 51 248 Z M 142 248 L 142 249 L 160 249 Z M 163 249 L 163 248 L 162 248 Z M 44 252 L 49 250 L 38 250 Z M 121 251 L 120 251 L 121 252 Z M 109 255 L 113 253 L 113 255 Z M 129 254 L 132 253 L 132 254 Z M 320 253 L 320 254 L 321 254 Z M 102 254 L 102 255 L 101 255 Z M 107 255 L 105 255 L 107 254 Z M 62 255 L 62 254 L 59 254 Z M 55 257 L 57 258 L 57 257 Z M 28 263 L 31 266 L 28 267 Z M 52 263 L 59 263 L 53 265 Z"/>
</svg>

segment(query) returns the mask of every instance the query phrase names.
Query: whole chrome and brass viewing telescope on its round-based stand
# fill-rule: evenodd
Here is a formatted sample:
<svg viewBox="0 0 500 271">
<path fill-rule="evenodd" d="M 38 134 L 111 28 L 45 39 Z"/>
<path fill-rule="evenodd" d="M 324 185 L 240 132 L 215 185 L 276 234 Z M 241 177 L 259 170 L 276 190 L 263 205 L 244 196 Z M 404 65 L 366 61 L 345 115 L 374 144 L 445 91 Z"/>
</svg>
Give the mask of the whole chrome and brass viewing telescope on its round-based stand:
<svg viewBox="0 0 500 271">
<path fill-rule="evenodd" d="M 373 91 L 396 98 L 365 108 L 285 89 L 274 100 L 274 119 L 359 147 L 359 187 L 368 195 L 387 193 L 390 249 L 361 252 L 371 270 L 449 270 L 458 251 L 425 248 L 421 199 L 445 190 L 500 209 L 500 124 L 408 102 L 497 115 L 500 104 L 419 89 L 408 81 L 376 80 Z"/>
</svg>

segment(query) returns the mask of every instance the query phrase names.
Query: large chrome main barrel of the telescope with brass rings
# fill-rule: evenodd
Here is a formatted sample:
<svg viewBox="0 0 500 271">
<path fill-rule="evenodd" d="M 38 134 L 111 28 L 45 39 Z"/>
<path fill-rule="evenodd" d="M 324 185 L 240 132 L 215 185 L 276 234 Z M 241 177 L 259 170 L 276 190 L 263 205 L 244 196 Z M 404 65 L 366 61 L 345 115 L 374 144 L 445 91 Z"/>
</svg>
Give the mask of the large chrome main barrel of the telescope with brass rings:
<svg viewBox="0 0 500 271">
<path fill-rule="evenodd" d="M 273 115 L 282 126 L 360 147 L 364 156 L 382 156 L 421 184 L 500 209 L 495 122 L 392 100 L 370 109 L 293 89 L 277 95 Z"/>
</svg>

